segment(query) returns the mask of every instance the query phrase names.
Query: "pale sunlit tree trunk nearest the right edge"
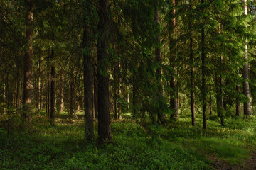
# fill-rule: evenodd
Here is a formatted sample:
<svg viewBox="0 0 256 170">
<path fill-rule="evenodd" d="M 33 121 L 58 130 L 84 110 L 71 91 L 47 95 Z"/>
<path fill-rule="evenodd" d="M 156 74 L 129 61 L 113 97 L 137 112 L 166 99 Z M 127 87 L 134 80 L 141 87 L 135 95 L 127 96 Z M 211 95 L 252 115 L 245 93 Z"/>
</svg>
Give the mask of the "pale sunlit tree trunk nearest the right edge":
<svg viewBox="0 0 256 170">
<path fill-rule="evenodd" d="M 244 15 L 247 16 L 247 0 L 242 0 L 244 4 L 243 8 L 245 10 Z M 245 79 L 242 82 L 243 94 L 247 98 L 247 101 L 244 102 L 244 114 L 251 115 L 251 99 L 250 99 L 250 86 L 249 86 L 249 64 L 248 64 L 248 46 L 247 40 L 245 40 L 245 65 L 242 69 L 242 78 Z"/>
</svg>

